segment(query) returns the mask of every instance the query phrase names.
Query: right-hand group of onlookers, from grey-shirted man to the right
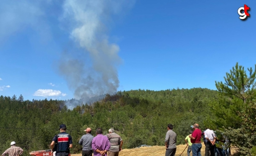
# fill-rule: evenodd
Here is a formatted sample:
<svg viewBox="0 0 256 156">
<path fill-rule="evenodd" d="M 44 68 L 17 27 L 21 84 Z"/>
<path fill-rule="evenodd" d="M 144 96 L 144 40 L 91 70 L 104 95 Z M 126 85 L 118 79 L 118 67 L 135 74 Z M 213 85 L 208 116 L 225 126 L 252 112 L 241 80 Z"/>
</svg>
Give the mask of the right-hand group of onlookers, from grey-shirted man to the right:
<svg viewBox="0 0 256 156">
<path fill-rule="evenodd" d="M 190 156 L 190 152 L 192 151 L 193 156 L 201 156 L 201 137 L 202 132 L 199 129 L 199 125 L 195 123 L 193 126 L 193 132 L 190 131 L 189 135 L 185 138 L 185 142 L 187 144 L 187 156 Z M 165 136 L 165 147 L 166 152 L 165 156 L 175 156 L 176 153 L 176 139 L 177 135 L 173 131 L 173 125 L 169 124 L 167 126 L 167 132 Z M 209 128 L 206 128 L 206 130 L 203 132 L 205 136 L 205 156 L 215 156 L 215 142 L 216 142 L 216 135 L 214 131 L 210 130 Z M 227 142 L 227 141 L 226 141 Z M 220 156 L 229 156 L 228 150 L 223 150 Z"/>
</svg>

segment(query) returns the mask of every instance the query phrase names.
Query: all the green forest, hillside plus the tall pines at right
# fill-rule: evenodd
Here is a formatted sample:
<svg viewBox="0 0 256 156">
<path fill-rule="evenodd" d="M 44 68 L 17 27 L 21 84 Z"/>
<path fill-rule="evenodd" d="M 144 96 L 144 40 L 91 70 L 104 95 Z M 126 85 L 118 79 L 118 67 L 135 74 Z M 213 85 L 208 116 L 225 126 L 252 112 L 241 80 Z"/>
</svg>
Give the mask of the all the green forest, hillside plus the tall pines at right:
<svg viewBox="0 0 256 156">
<path fill-rule="evenodd" d="M 71 153 L 80 153 L 78 144 L 84 129 L 97 127 L 103 134 L 114 128 L 124 141 L 123 148 L 140 144 L 164 146 L 167 125 L 172 123 L 177 144 L 184 144 L 190 125 L 214 130 L 219 140 L 226 136 L 239 155 L 256 156 L 256 65 L 244 69 L 238 63 L 226 73 L 216 90 L 207 88 L 120 91 L 91 104 L 67 100 L 24 100 L 22 95 L 0 96 L 1 152 L 11 141 L 25 150 L 50 149 L 53 136 L 64 123 L 73 138 Z M 72 102 L 75 107 L 67 107 Z M 222 142 L 216 146 L 221 147 Z"/>
</svg>

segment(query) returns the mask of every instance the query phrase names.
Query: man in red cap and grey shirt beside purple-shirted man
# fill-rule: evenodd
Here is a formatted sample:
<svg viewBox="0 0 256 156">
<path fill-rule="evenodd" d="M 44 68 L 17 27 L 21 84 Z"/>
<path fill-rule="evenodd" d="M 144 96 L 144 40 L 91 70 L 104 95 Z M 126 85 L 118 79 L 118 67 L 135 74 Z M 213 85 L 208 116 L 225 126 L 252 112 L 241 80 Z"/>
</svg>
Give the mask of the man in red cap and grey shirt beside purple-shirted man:
<svg viewBox="0 0 256 156">
<path fill-rule="evenodd" d="M 79 144 L 83 146 L 82 156 L 92 156 L 92 139 L 94 136 L 91 135 L 91 128 L 86 128 L 86 134 L 79 140 Z"/>
</svg>

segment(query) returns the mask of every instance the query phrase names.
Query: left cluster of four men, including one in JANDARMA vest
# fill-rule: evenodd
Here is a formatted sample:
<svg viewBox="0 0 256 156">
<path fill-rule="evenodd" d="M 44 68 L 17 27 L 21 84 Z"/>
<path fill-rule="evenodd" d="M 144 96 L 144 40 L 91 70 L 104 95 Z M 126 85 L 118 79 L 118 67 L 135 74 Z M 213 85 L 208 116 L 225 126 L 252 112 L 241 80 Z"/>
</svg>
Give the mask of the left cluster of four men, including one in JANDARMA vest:
<svg viewBox="0 0 256 156">
<path fill-rule="evenodd" d="M 72 137 L 66 133 L 66 125 L 59 126 L 60 133 L 51 142 L 51 154 L 55 156 L 69 156 L 73 147 Z M 111 128 L 109 134 L 102 135 L 102 128 L 96 129 L 96 136 L 92 136 L 91 128 L 86 128 L 86 134 L 81 137 L 79 144 L 83 146 L 82 156 L 118 156 L 122 150 L 123 140 Z M 107 153 L 108 152 L 108 153 Z"/>
</svg>

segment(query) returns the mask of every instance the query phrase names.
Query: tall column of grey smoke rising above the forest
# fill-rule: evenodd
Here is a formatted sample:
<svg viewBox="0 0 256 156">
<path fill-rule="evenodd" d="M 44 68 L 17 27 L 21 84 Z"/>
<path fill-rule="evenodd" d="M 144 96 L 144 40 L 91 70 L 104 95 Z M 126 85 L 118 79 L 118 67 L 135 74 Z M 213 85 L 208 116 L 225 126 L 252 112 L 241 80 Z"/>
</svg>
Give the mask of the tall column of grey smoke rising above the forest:
<svg viewBox="0 0 256 156">
<path fill-rule="evenodd" d="M 111 16 L 133 5 L 126 0 L 66 0 L 62 20 L 69 21 L 70 37 L 82 47 L 73 55 L 64 52 L 59 71 L 76 99 L 113 94 L 119 87 L 117 67 L 122 62 L 119 46 L 106 34 Z M 128 6 L 128 7 L 127 7 Z M 90 59 L 86 60 L 86 56 Z M 91 63 L 91 66 L 88 64 Z"/>
</svg>

